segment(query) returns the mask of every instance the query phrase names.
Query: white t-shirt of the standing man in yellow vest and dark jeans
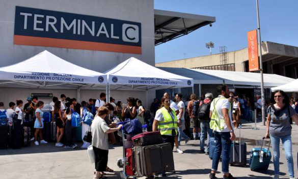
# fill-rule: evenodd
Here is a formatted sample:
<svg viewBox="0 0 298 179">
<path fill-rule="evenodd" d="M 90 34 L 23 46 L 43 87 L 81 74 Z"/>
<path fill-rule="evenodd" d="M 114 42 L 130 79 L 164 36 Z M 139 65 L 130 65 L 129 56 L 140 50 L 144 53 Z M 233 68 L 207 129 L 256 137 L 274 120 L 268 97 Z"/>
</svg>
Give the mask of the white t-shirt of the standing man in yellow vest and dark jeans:
<svg viewBox="0 0 298 179">
<path fill-rule="evenodd" d="M 224 96 L 219 96 L 219 97 L 224 97 Z M 223 113 L 222 113 L 222 109 L 226 108 L 226 109 L 230 109 L 230 105 L 231 103 L 229 102 L 228 99 L 221 99 L 221 100 L 218 100 L 218 99 L 214 99 L 211 104 L 210 104 L 210 111 L 213 112 L 213 109 L 214 109 L 214 101 L 216 101 L 215 103 L 215 110 L 218 112 L 219 116 L 223 116 Z M 232 110 L 232 109 L 231 109 Z M 234 129 L 233 127 L 233 121 L 232 121 L 232 113 L 231 112 L 228 112 L 229 113 L 229 118 L 230 118 L 230 122 L 231 122 L 231 126 L 232 126 L 232 129 Z M 222 120 L 224 120 L 222 118 Z M 224 129 L 223 130 L 216 130 L 216 132 L 229 132 L 230 130 L 228 129 L 227 125 L 225 124 L 224 125 Z"/>
</svg>

